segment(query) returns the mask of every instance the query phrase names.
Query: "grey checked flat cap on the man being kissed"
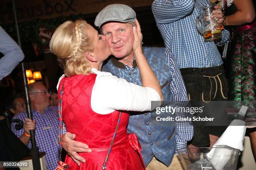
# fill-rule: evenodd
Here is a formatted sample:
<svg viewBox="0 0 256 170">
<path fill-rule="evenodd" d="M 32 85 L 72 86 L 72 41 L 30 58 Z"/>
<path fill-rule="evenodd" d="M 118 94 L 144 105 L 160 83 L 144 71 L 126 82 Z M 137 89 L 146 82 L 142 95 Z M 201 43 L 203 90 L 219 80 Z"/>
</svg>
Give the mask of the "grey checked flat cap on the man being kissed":
<svg viewBox="0 0 256 170">
<path fill-rule="evenodd" d="M 108 5 L 96 16 L 94 25 L 99 27 L 108 21 L 118 21 L 121 23 L 133 22 L 135 23 L 136 13 L 135 11 L 123 4 Z"/>
</svg>

